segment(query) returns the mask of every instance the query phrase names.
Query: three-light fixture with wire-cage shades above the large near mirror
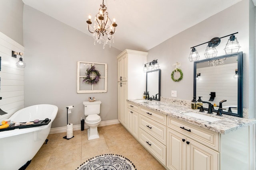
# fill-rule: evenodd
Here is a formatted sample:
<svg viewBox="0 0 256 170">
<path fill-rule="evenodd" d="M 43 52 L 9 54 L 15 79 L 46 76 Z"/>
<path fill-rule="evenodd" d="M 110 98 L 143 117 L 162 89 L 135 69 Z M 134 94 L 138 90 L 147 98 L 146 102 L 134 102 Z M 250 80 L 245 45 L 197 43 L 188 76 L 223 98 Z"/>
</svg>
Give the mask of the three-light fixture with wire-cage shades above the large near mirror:
<svg viewBox="0 0 256 170">
<path fill-rule="evenodd" d="M 224 37 L 230 36 L 230 39 L 228 39 L 228 43 L 226 44 L 226 47 L 224 49 L 226 54 L 228 54 L 228 53 L 237 53 L 238 50 L 240 49 L 241 46 L 239 45 L 236 37 L 234 36 L 234 34 L 237 34 L 237 33 L 238 32 L 224 36 Z M 215 47 L 217 47 L 220 44 L 220 39 L 222 39 L 224 37 L 220 37 L 220 38 L 219 37 L 214 37 L 210 41 L 206 42 L 206 43 L 208 43 L 208 45 L 206 47 L 206 50 L 205 50 L 205 53 L 204 53 L 206 59 L 217 57 L 218 51 L 216 50 Z M 206 43 L 202 43 L 202 44 L 199 44 L 199 45 L 203 45 L 203 44 L 206 44 Z M 194 62 L 194 61 L 199 60 L 200 56 L 198 55 L 198 52 L 195 49 L 195 47 L 198 47 L 199 45 L 191 47 L 192 51 L 190 52 L 190 55 L 188 57 L 190 62 Z"/>
</svg>

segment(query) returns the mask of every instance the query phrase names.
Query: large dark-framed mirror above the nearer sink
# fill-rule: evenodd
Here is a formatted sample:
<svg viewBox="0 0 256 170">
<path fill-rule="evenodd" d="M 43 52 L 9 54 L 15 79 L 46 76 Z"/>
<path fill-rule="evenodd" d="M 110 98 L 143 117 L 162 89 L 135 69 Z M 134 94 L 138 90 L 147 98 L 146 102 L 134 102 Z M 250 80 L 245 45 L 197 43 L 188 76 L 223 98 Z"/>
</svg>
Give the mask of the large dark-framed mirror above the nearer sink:
<svg viewBox="0 0 256 170">
<path fill-rule="evenodd" d="M 222 114 L 243 117 L 242 55 L 242 52 L 232 53 L 194 62 L 196 99 L 202 96 L 202 101 L 216 104 L 212 106 L 214 112 L 222 106 Z M 208 104 L 203 107 L 208 110 Z"/>
</svg>

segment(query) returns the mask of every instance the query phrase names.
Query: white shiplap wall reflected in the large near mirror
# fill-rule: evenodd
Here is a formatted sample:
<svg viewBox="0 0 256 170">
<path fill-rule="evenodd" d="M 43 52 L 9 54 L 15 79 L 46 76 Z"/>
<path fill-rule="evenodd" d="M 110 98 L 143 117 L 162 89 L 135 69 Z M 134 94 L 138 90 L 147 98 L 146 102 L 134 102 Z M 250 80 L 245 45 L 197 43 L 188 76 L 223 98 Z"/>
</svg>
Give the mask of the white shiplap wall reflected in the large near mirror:
<svg viewBox="0 0 256 170">
<path fill-rule="evenodd" d="M 196 95 L 202 96 L 203 101 L 208 101 L 210 92 L 216 92 L 212 104 L 219 106 L 221 100 L 227 100 L 222 103 L 222 106 L 237 106 L 238 82 L 233 78 L 235 69 L 237 69 L 237 63 L 196 69 L 197 73 L 201 73 L 196 80 Z"/>
</svg>

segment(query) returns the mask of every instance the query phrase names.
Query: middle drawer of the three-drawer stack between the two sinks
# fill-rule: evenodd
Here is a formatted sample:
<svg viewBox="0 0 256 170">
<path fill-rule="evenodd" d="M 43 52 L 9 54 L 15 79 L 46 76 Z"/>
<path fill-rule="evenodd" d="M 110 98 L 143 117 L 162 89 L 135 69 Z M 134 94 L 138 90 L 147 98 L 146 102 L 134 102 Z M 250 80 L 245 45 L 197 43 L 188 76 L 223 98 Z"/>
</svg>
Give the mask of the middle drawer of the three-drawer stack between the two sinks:
<svg viewBox="0 0 256 170">
<path fill-rule="evenodd" d="M 139 115 L 139 127 L 162 144 L 166 145 L 166 126 L 157 123 L 144 115 Z"/>
</svg>

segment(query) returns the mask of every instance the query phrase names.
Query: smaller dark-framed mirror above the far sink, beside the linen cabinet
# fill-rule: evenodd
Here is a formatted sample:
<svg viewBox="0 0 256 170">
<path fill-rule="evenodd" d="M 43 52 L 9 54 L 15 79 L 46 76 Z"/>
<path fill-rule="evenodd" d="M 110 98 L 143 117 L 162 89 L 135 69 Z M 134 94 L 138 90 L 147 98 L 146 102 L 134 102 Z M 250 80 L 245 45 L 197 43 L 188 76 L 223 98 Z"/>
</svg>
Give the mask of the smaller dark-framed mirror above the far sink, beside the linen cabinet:
<svg viewBox="0 0 256 170">
<path fill-rule="evenodd" d="M 160 69 L 147 71 L 146 92 L 152 100 L 160 101 Z"/>
</svg>

